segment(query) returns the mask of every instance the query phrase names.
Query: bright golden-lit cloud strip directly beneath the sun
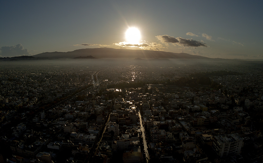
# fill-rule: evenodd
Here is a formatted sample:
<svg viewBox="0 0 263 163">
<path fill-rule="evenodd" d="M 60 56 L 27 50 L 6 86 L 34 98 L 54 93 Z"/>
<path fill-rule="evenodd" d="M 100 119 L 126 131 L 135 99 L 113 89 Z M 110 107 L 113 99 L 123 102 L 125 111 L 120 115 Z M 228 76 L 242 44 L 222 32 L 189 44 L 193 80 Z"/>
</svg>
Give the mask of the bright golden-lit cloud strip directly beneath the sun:
<svg viewBox="0 0 263 163">
<path fill-rule="evenodd" d="M 119 42 L 119 43 L 114 43 L 113 45 L 117 45 L 117 46 L 129 46 L 129 47 L 138 47 L 144 50 L 161 50 L 164 47 L 161 44 L 158 44 L 156 42 L 151 42 L 149 44 L 147 43 L 141 43 L 141 44 L 130 44 L 128 42 Z"/>
</svg>

